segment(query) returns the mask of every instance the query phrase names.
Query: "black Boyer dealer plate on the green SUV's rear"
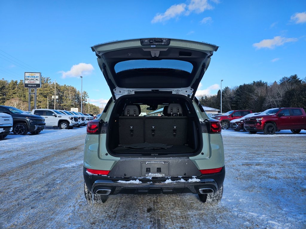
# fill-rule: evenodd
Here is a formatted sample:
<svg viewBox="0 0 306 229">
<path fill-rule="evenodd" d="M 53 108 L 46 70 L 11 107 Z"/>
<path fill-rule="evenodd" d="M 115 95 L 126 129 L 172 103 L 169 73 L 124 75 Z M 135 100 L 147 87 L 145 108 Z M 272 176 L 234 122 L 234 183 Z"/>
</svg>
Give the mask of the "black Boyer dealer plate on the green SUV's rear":
<svg viewBox="0 0 306 229">
<path fill-rule="evenodd" d="M 141 176 L 162 177 L 169 176 L 169 162 L 141 162 Z"/>
</svg>

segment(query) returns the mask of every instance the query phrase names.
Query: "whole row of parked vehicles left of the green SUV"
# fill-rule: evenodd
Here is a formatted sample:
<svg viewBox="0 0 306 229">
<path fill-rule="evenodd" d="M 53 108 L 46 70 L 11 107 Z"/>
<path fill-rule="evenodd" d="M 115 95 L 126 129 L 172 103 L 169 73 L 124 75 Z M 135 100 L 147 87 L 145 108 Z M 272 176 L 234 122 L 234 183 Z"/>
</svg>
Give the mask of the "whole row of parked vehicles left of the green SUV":
<svg viewBox="0 0 306 229">
<path fill-rule="evenodd" d="M 10 132 L 17 135 L 40 133 L 45 127 L 69 129 L 87 125 L 94 117 L 75 111 L 34 109 L 21 111 L 15 107 L 0 106 L 0 140 Z"/>
</svg>

